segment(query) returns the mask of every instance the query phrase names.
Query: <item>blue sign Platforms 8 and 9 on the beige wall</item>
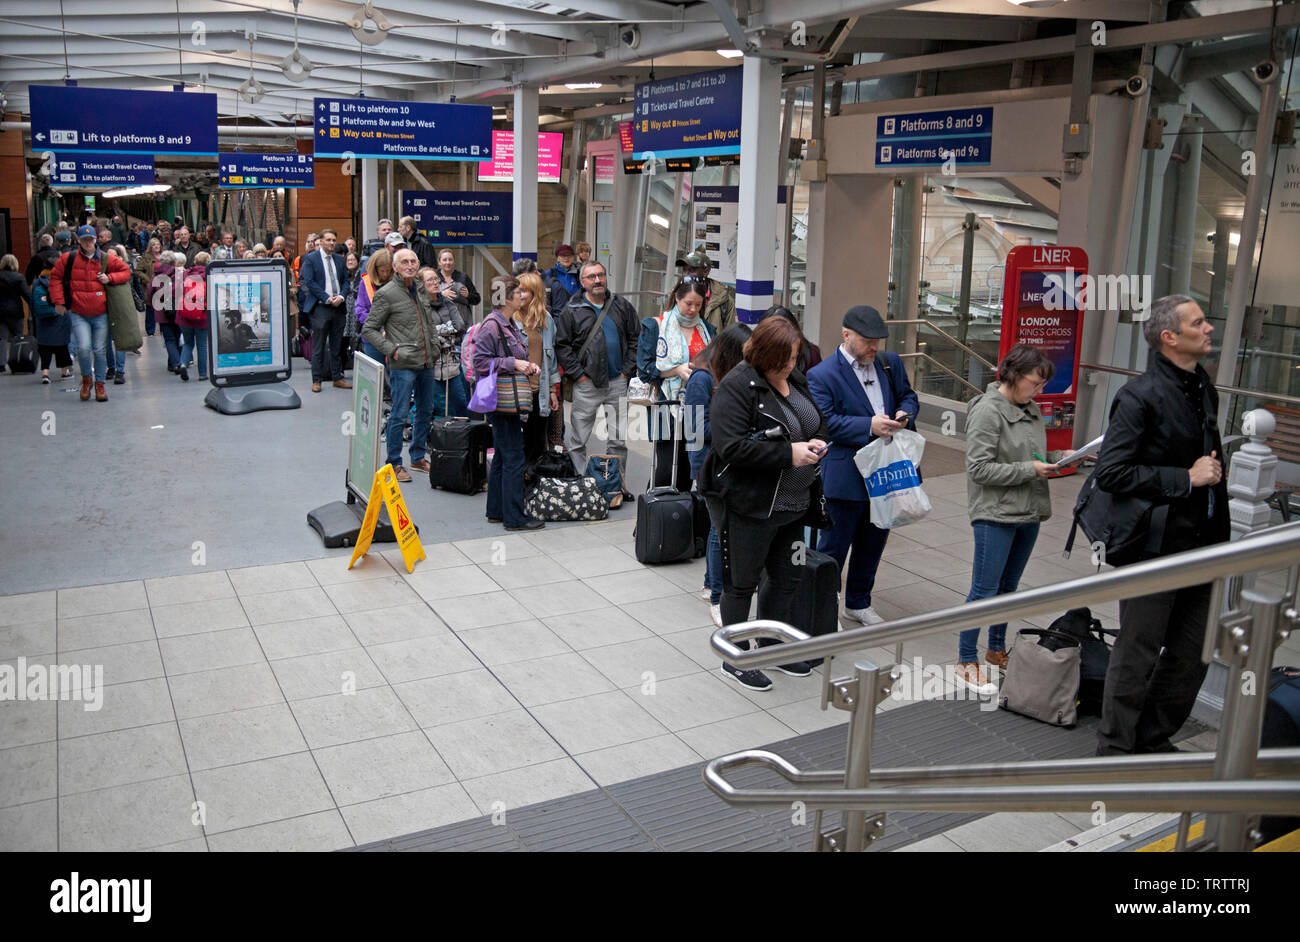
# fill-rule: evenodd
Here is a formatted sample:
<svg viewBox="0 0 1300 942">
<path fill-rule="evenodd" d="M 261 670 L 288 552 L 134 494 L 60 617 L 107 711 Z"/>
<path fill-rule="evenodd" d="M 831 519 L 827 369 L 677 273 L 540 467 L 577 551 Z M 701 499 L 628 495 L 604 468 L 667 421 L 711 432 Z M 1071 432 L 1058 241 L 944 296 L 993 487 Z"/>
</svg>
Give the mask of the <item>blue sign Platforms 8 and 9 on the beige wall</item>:
<svg viewBox="0 0 1300 942">
<path fill-rule="evenodd" d="M 993 109 L 950 108 L 876 117 L 876 166 L 985 166 L 993 159 Z"/>
</svg>

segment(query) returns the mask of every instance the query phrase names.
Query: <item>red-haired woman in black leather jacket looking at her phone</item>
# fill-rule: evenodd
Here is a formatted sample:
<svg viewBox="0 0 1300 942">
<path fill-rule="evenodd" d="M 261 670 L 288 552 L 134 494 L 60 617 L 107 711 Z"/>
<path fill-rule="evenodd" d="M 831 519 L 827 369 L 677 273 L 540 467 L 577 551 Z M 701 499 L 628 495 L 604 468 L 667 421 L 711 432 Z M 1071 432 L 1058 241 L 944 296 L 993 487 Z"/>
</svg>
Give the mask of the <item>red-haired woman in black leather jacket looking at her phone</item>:
<svg viewBox="0 0 1300 942">
<path fill-rule="evenodd" d="M 824 525 L 818 461 L 828 433 L 807 381 L 794 369 L 800 347 L 798 329 L 770 317 L 745 342 L 745 361 L 714 390 L 712 450 L 699 490 L 723 547 L 724 625 L 748 620 L 764 570 L 772 591 L 764 591 L 758 617 L 788 622 L 803 528 Z M 793 677 L 811 673 L 803 661 L 777 669 Z M 760 670 L 723 663 L 723 674 L 750 690 L 772 686 Z"/>
</svg>

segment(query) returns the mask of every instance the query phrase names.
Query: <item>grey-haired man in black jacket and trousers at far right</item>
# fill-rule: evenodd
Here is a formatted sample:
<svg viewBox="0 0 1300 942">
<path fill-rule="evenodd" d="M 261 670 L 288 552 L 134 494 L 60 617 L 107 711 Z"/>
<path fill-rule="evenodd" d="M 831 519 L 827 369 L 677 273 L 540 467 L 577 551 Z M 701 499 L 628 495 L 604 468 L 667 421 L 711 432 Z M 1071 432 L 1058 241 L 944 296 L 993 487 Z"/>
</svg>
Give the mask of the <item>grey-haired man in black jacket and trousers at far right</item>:
<svg viewBox="0 0 1300 942">
<path fill-rule="evenodd" d="M 1161 298 L 1143 326 L 1154 351 L 1148 370 L 1110 407 L 1097 486 L 1154 503 L 1149 557 L 1228 538 L 1227 486 L 1219 460 L 1218 392 L 1200 366 L 1214 330 L 1184 295 Z M 1175 752 L 1170 737 L 1205 680 L 1201 642 L 1210 586 L 1119 602 L 1119 638 L 1106 670 L 1098 755 Z"/>
</svg>

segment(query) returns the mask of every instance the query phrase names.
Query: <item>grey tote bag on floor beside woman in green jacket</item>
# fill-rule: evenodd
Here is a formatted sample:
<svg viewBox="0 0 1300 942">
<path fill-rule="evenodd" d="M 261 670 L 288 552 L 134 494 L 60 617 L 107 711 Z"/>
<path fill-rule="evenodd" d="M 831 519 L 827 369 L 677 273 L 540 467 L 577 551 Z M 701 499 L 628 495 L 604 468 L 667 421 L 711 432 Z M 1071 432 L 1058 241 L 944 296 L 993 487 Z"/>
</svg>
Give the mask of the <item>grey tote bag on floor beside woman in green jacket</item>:
<svg viewBox="0 0 1300 942">
<path fill-rule="evenodd" d="M 1053 726 L 1072 726 L 1078 698 L 1078 638 L 1048 628 L 1018 631 L 997 706 Z"/>
</svg>

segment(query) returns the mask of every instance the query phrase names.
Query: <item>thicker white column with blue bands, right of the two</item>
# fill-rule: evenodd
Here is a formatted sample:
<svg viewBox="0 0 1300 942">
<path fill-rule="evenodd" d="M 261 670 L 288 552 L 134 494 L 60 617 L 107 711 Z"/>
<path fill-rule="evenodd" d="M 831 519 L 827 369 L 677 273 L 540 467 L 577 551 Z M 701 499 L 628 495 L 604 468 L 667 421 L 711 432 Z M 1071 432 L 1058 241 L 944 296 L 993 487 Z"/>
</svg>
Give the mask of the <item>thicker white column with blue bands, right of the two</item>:
<svg viewBox="0 0 1300 942">
<path fill-rule="evenodd" d="M 758 56 L 745 56 L 744 69 L 744 97 L 740 109 L 736 314 L 745 324 L 755 324 L 772 304 L 781 66 Z"/>
</svg>

